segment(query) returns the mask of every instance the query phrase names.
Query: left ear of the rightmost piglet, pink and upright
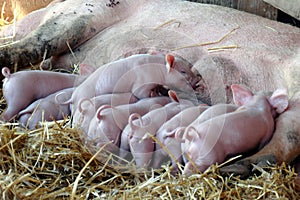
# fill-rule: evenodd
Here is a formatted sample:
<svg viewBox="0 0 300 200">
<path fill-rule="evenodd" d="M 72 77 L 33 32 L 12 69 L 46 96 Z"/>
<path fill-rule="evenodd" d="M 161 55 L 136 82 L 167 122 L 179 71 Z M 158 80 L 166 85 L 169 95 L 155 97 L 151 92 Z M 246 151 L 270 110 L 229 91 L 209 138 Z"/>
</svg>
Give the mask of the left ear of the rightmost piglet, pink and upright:
<svg viewBox="0 0 300 200">
<path fill-rule="evenodd" d="M 242 106 L 253 97 L 253 93 L 245 86 L 232 84 L 231 85 L 233 101 L 236 105 Z"/>
</svg>

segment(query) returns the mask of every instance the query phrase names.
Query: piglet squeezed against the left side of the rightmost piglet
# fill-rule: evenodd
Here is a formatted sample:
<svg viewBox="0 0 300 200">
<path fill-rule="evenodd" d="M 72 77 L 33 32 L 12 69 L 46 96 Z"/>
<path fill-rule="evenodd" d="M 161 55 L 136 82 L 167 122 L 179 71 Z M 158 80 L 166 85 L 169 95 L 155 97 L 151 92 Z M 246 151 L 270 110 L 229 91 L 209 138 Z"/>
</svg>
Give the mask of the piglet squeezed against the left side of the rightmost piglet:
<svg viewBox="0 0 300 200">
<path fill-rule="evenodd" d="M 175 132 L 179 127 L 186 127 L 193 122 L 208 106 L 200 105 L 184 109 L 176 114 L 170 120 L 165 122 L 157 131 L 156 138 L 163 144 L 163 148 L 159 143 L 155 143 L 155 151 L 153 153 L 153 168 L 159 168 L 163 162 L 172 159 L 172 167 L 174 173 L 177 171 L 177 163 L 183 164 L 181 143 L 175 139 Z M 167 148 L 167 150 L 165 149 Z M 176 159 L 176 160 L 174 160 Z"/>
</svg>

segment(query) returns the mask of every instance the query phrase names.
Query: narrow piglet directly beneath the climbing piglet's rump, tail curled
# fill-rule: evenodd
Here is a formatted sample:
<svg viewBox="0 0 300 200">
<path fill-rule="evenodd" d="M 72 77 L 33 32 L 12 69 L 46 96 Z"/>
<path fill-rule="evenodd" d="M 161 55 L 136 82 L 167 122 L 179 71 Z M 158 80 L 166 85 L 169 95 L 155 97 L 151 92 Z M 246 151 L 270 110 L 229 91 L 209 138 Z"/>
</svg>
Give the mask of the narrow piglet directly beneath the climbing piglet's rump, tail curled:
<svg viewBox="0 0 300 200">
<path fill-rule="evenodd" d="M 135 103 L 137 100 L 132 93 L 103 94 L 92 99 L 83 98 L 79 101 L 78 108 L 74 111 L 72 127 L 79 128 L 83 133 L 87 133 L 91 119 L 102 105 L 109 104 L 115 107 Z"/>
</svg>

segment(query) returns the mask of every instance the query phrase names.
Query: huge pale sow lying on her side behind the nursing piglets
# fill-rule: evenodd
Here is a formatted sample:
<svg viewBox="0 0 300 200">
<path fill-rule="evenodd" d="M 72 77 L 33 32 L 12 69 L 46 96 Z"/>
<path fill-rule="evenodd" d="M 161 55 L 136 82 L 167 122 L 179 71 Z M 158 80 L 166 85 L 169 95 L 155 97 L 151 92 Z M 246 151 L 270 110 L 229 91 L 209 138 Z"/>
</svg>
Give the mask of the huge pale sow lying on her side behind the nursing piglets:
<svg viewBox="0 0 300 200">
<path fill-rule="evenodd" d="M 16 39 L 20 41 L 0 49 L 0 65 L 12 69 L 16 64 L 22 69 L 29 63 L 39 63 L 46 55 L 49 59 L 43 63 L 45 68 L 65 68 L 78 62 L 101 66 L 155 47 L 173 50 L 198 69 L 204 83 L 198 91 L 206 103 L 232 102 L 228 89 L 232 83 L 243 83 L 253 91 L 287 87 L 290 97 L 299 91 L 299 28 L 229 8 L 179 0 L 120 0 L 113 7 L 106 3 L 109 1 L 66 0 L 34 14 L 36 17 L 28 16 L 24 20 L 35 21 L 36 27 L 28 29 L 28 23 L 22 21 L 17 24 Z M 228 37 L 204 49 L 174 50 L 217 41 L 235 28 Z M 211 47 L 228 45 L 239 48 L 206 52 Z M 300 132 L 295 130 L 289 138 L 300 137 Z M 290 142 L 284 131 L 275 133 L 267 146 L 273 152 L 264 148 L 250 162 L 263 159 L 290 162 L 299 155 L 299 140 Z"/>
</svg>

